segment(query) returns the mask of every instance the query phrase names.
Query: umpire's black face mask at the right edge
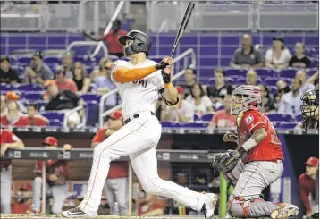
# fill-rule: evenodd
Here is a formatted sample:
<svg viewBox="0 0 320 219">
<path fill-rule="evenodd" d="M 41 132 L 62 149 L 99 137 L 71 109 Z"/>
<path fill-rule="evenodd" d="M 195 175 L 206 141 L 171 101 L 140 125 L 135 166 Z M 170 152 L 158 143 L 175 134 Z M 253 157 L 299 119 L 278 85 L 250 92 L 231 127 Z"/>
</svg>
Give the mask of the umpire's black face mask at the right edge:
<svg viewBox="0 0 320 219">
<path fill-rule="evenodd" d="M 318 121 L 317 116 L 319 116 L 319 90 L 309 90 L 301 95 L 301 100 L 303 105 L 300 106 L 302 113 L 302 125 L 307 130 L 308 124 L 312 120 Z"/>
</svg>

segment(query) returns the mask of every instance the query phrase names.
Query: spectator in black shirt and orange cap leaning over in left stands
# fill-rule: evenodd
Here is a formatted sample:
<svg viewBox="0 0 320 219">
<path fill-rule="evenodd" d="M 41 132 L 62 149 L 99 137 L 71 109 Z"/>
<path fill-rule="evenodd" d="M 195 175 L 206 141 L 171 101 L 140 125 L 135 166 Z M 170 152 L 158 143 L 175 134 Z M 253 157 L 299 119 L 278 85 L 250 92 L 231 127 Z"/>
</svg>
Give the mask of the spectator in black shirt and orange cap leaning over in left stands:
<svg viewBox="0 0 320 219">
<path fill-rule="evenodd" d="M 62 113 L 70 112 L 77 106 L 83 105 L 83 100 L 71 90 L 58 90 L 55 80 L 47 80 L 44 86 L 49 94 L 49 102 L 45 106 L 45 110 L 58 110 Z M 68 119 L 68 127 L 75 128 L 81 122 L 81 117 L 84 119 L 82 110 L 70 114 Z"/>
</svg>

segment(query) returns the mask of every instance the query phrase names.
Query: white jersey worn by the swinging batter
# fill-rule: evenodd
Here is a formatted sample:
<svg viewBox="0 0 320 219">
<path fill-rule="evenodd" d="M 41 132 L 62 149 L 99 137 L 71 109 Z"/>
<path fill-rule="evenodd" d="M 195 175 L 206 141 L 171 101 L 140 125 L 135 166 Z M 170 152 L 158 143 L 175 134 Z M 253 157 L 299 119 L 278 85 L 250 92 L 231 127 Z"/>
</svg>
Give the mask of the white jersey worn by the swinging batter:
<svg viewBox="0 0 320 219">
<path fill-rule="evenodd" d="M 161 71 L 153 72 L 142 80 L 137 80 L 128 83 L 119 83 L 114 80 L 114 71 L 119 67 L 127 68 L 142 68 L 150 65 L 155 65 L 156 62 L 147 59 L 144 63 L 131 64 L 124 60 L 114 62 L 111 71 L 111 79 L 118 88 L 118 92 L 122 99 L 122 114 L 123 118 L 127 119 L 132 114 L 139 112 L 156 111 L 156 101 L 159 98 L 159 91 L 164 90 L 164 80 Z"/>
</svg>

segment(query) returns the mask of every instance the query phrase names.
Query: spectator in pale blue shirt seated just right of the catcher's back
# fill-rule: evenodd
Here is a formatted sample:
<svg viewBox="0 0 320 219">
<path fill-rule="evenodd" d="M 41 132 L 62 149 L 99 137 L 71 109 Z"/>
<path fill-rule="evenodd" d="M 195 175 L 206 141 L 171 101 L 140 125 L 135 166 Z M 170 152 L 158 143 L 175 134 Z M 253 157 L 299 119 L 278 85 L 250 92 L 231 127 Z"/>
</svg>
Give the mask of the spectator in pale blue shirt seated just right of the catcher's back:
<svg viewBox="0 0 320 219">
<path fill-rule="evenodd" d="M 279 114 L 290 114 L 291 116 L 294 116 L 295 114 L 301 114 L 301 84 L 302 82 L 297 78 L 292 80 L 292 90 L 289 93 L 282 95 L 278 109 Z"/>
</svg>

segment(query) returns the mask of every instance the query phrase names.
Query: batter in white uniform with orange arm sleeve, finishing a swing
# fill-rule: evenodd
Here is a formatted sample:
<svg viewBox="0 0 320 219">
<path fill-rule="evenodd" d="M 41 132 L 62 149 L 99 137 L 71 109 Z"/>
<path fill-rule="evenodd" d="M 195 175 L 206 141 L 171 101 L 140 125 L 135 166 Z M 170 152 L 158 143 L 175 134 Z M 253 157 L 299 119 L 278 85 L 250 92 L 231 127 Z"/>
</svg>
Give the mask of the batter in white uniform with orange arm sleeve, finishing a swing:
<svg viewBox="0 0 320 219">
<path fill-rule="evenodd" d="M 165 58 L 160 63 L 148 60 L 151 40 L 139 30 L 132 30 L 119 41 L 130 61 L 115 62 L 111 76 L 122 98 L 125 125 L 95 147 L 88 193 L 80 206 L 64 211 L 63 216 L 96 217 L 110 162 L 130 156 L 133 170 L 147 193 L 173 198 L 185 206 L 202 210 L 206 218 L 211 218 L 217 199 L 215 194 L 201 194 L 164 181 L 157 173 L 156 145 L 161 136 L 161 124 L 155 116 L 156 101 L 159 94 L 166 105 L 176 105 L 179 101 L 177 89 L 171 83 L 173 60 Z"/>
</svg>

